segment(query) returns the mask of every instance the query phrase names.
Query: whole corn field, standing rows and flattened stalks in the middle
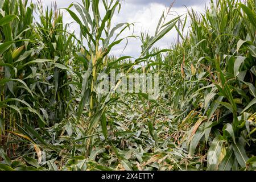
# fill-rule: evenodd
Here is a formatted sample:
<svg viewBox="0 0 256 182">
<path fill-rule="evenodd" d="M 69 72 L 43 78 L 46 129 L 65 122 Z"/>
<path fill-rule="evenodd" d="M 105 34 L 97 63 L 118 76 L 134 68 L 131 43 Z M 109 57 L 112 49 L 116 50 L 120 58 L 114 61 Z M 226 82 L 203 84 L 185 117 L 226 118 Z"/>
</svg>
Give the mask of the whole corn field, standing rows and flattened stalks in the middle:
<svg viewBox="0 0 256 182">
<path fill-rule="evenodd" d="M 124 37 L 119 0 L 0 0 L 0 171 L 255 170 L 256 1 L 209 1 Z M 155 46 L 175 28 L 180 43 Z M 141 55 L 113 56 L 129 39 Z M 122 78 L 102 94 L 113 69 L 158 74 L 159 94 L 115 92 Z"/>
</svg>

